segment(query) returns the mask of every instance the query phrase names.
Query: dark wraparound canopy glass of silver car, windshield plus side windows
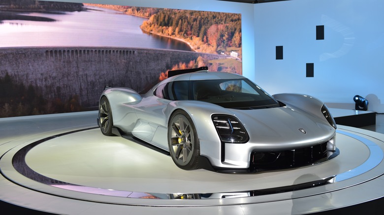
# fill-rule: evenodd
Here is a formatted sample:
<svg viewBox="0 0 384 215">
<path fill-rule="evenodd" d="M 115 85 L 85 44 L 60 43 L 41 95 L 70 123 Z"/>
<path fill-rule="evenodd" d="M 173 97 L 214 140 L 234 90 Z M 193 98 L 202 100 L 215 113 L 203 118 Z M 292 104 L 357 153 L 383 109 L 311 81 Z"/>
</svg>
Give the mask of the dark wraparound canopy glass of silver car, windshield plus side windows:
<svg viewBox="0 0 384 215">
<path fill-rule="evenodd" d="M 280 107 L 279 103 L 248 79 L 172 81 L 160 85 L 155 95 L 167 100 L 196 100 L 224 108 Z"/>
</svg>

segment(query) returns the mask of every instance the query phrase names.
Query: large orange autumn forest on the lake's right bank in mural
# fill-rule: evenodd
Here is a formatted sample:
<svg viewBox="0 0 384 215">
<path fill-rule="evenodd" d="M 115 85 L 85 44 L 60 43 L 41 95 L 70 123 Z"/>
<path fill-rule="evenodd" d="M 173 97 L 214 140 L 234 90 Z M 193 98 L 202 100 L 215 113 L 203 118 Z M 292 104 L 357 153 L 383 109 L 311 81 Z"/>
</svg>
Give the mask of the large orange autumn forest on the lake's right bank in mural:
<svg viewBox="0 0 384 215">
<path fill-rule="evenodd" d="M 141 29 L 188 42 L 196 52 L 222 54 L 241 48 L 241 15 L 194 10 L 163 9 Z"/>
</svg>

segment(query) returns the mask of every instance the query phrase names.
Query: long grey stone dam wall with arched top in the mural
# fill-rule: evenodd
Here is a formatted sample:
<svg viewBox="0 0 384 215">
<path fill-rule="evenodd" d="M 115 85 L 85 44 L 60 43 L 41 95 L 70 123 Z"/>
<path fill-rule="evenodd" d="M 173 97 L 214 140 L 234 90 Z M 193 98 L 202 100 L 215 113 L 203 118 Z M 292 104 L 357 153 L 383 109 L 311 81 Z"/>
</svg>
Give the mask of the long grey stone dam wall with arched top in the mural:
<svg viewBox="0 0 384 215">
<path fill-rule="evenodd" d="M 47 100 L 77 95 L 83 107 L 96 107 L 105 85 L 141 91 L 180 62 L 229 56 L 190 51 L 115 47 L 0 48 L 0 77 L 41 89 Z"/>
</svg>

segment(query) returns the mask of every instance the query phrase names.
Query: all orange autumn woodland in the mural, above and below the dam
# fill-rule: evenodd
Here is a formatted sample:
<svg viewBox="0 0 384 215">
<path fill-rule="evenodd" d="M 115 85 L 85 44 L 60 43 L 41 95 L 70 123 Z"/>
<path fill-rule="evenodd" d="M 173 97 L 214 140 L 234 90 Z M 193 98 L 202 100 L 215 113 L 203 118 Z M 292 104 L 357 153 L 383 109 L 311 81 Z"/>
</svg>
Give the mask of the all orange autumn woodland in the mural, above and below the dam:
<svg viewBox="0 0 384 215">
<path fill-rule="evenodd" d="M 140 26 L 144 32 L 180 39 L 188 43 L 195 52 L 236 54 L 235 60 L 232 58 L 209 62 L 200 57 L 190 62 L 173 65 L 170 70 L 208 66 L 211 71 L 242 74 L 241 14 L 105 4 L 86 5 L 146 17 L 148 20 Z M 160 80 L 166 77 L 167 72 L 162 72 Z"/>
</svg>

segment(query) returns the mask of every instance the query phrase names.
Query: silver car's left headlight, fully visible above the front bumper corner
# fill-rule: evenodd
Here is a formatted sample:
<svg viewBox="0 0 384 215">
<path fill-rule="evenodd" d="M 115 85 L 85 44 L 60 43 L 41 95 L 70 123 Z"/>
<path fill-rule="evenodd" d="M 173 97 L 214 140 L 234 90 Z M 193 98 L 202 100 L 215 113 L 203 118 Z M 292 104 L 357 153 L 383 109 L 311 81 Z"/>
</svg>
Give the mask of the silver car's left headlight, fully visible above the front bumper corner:
<svg viewBox="0 0 384 215">
<path fill-rule="evenodd" d="M 227 143 L 246 143 L 249 136 L 243 124 L 234 116 L 212 115 L 213 124 L 220 139 Z"/>
</svg>

